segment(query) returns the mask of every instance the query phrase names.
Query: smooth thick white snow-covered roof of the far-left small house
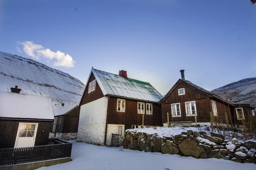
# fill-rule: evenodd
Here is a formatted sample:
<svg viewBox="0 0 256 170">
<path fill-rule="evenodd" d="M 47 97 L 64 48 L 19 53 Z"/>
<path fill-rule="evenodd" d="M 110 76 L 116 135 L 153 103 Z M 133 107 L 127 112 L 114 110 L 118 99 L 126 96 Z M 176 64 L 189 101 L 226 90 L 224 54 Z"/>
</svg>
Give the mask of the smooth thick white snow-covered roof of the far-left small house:
<svg viewBox="0 0 256 170">
<path fill-rule="evenodd" d="M 54 119 L 52 98 L 0 91 L 0 117 Z"/>
</svg>

